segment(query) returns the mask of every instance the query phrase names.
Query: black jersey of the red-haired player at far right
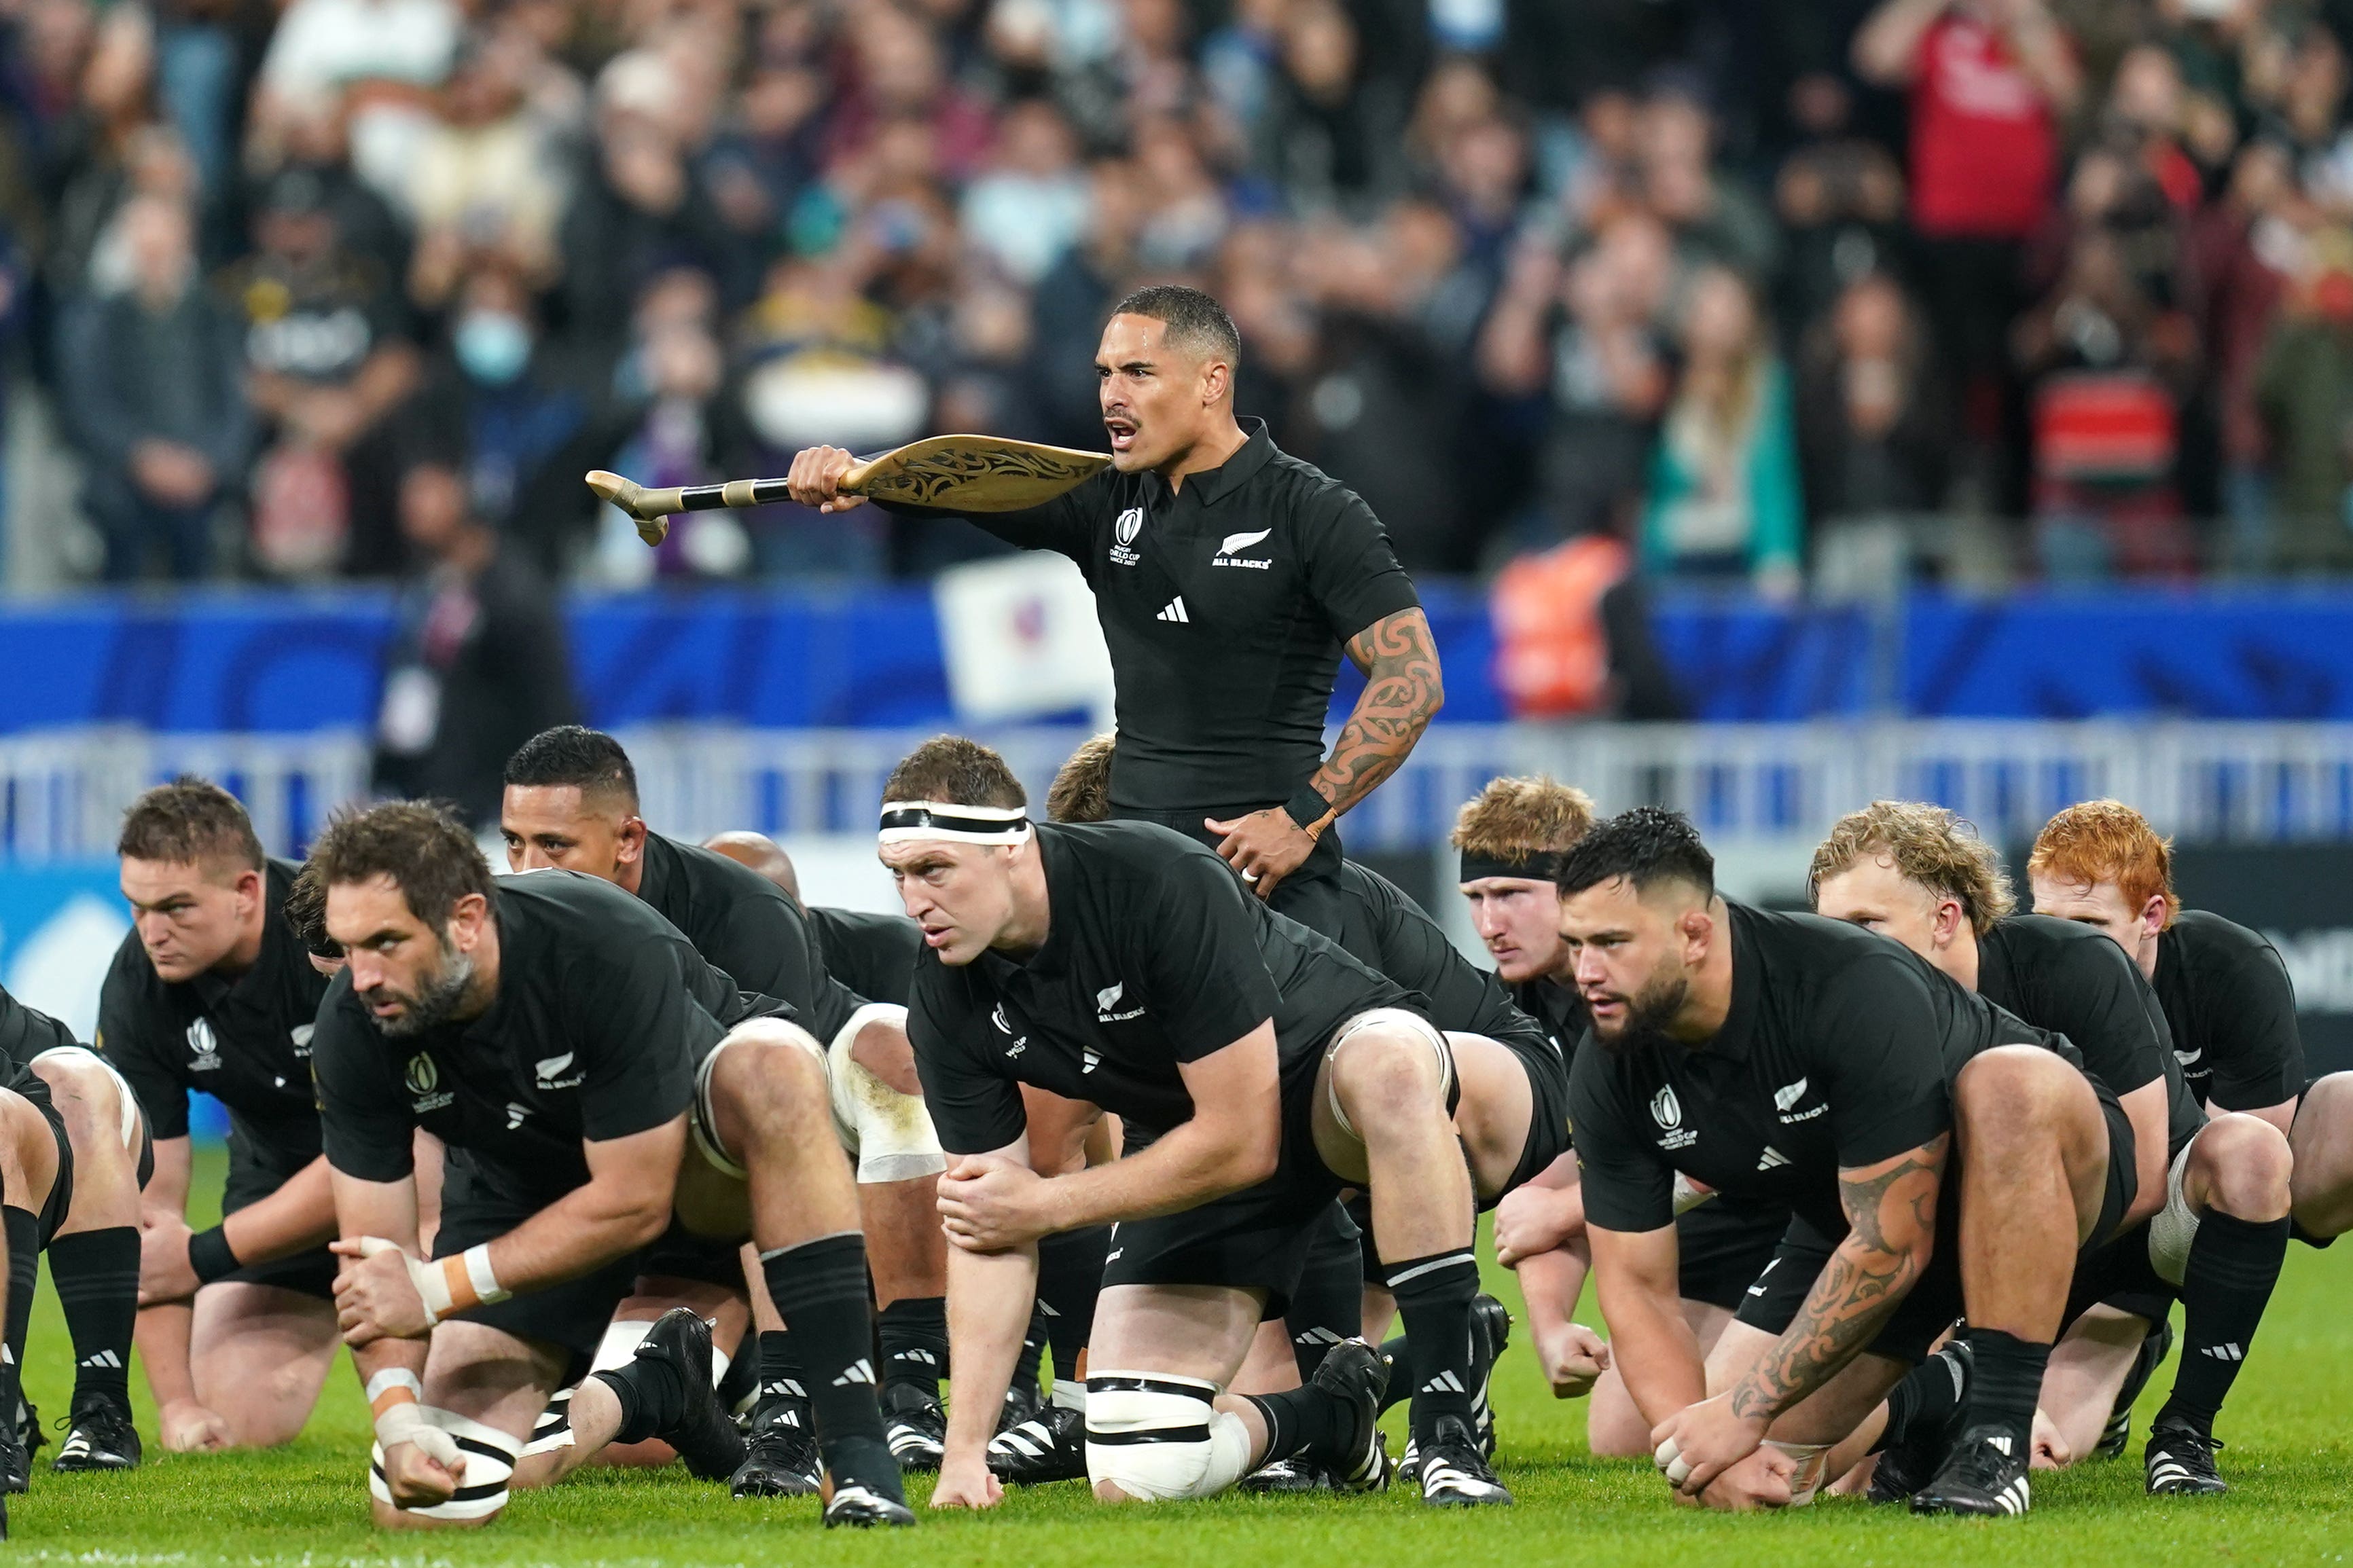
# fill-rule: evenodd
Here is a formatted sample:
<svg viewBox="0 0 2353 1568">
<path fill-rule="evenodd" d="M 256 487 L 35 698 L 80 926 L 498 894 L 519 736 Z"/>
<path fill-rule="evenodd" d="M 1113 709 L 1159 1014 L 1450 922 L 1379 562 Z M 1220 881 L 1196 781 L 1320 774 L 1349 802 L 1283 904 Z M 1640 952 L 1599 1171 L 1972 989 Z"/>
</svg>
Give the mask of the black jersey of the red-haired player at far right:
<svg viewBox="0 0 2353 1568">
<path fill-rule="evenodd" d="M 2191 1093 L 2214 1110 L 2266 1110 L 2304 1093 L 2297 987 L 2261 931 L 2181 910 L 2158 936 L 2151 980 Z"/>
</svg>

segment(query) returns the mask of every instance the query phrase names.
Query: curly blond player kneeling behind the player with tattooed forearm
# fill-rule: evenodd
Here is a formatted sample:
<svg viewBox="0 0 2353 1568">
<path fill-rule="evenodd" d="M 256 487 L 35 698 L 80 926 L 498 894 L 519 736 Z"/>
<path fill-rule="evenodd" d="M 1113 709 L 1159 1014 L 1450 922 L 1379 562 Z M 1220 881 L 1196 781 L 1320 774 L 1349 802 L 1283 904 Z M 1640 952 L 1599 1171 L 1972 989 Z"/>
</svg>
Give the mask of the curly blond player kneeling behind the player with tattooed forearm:
<svg viewBox="0 0 2353 1568">
<path fill-rule="evenodd" d="M 2287 1251 L 2287 1135 L 2242 1112 L 2207 1119 L 2181 1079 L 2148 980 L 2115 943 L 2073 922 L 2012 914 L 2009 879 L 1993 849 L 1941 806 L 1875 802 L 1840 818 L 1814 851 L 1809 886 L 1821 914 L 1892 936 L 1988 1001 L 2066 1034 L 2132 1117 L 2139 1199 L 2125 1213 L 2125 1234 L 2078 1267 L 2071 1324 L 2042 1380 L 2042 1410 L 2057 1427 L 2049 1460 L 2066 1465 L 2092 1453 L 2148 1319 L 2162 1321 L 2174 1293 L 2193 1342 L 2245 1349 Z M 2207 1215 L 2224 1222 L 2207 1229 Z M 2249 1234 L 2261 1248 L 2242 1260 L 2231 1248 Z M 2224 1248 L 2221 1269 L 2214 1248 Z M 1774 1284 L 1786 1293 L 1786 1281 Z M 2094 1307 L 2127 1288 L 2155 1307 L 2144 1314 Z M 1769 1316 L 1748 1321 L 1774 1326 Z M 1925 1371 L 1911 1389 L 1918 1403 L 1897 1410 L 1899 1425 L 1929 1439 L 1918 1453 L 1934 1448 L 1939 1408 L 1955 1403 L 1955 1378 L 1946 1373 L 1960 1371 L 1965 1382 L 1967 1366 L 1962 1352 L 1948 1368 Z M 2151 1493 L 2224 1490 L 2212 1425 L 2238 1366 L 2228 1359 L 2209 1375 L 2212 1408 L 2184 1399 L 2160 1413 L 2146 1460 Z M 1901 1434 L 1897 1443 L 1892 1458 L 1906 1453 Z M 1904 1465 L 1880 1462 L 1873 1495 L 1908 1490 L 1892 1469 Z M 1925 1474 L 1911 1467 L 1911 1479 Z"/>
</svg>

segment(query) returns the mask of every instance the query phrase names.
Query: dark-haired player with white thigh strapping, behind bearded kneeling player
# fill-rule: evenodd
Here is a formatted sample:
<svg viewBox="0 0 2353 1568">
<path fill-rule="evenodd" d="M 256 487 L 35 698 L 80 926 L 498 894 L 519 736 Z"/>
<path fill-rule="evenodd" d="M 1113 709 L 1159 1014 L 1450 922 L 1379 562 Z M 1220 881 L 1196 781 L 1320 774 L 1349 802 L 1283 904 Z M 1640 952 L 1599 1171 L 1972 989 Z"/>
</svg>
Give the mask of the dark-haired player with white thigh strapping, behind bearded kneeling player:
<svg viewBox="0 0 2353 1568">
<path fill-rule="evenodd" d="M 856 1157 L 866 1255 L 880 1302 L 889 1446 L 901 1467 L 934 1469 L 946 1436 L 939 1375 L 948 1361 L 946 1241 L 934 1187 L 948 1161 L 918 1093 L 906 1009 L 887 999 L 868 1001 L 840 985 L 826 971 L 800 903 L 774 882 L 727 856 L 649 832 L 638 816 L 638 771 L 607 733 L 565 724 L 525 741 L 506 762 L 499 832 L 508 867 L 553 865 L 635 893 L 678 926 L 704 961 L 746 992 L 793 1004 L 812 1034 L 831 1041 L 833 1117 L 842 1145 Z M 659 1281 L 645 1300 L 624 1302 L 614 1333 L 598 1352 L 600 1363 L 626 1361 L 635 1338 L 661 1316 L 661 1302 L 685 1300 L 682 1284 Z M 746 1288 L 720 1291 L 729 1316 L 744 1309 Z M 715 1302 L 694 1305 L 708 1316 Z M 762 1368 L 762 1389 L 793 1382 L 800 1378 L 788 1363 Z M 807 1429 L 805 1396 L 762 1394 L 753 1432 L 774 1434 L 774 1441 L 746 1458 L 736 1493 L 816 1490 Z M 781 1476 L 776 1465 L 786 1455 L 767 1453 L 772 1446 L 791 1448 Z"/>
</svg>

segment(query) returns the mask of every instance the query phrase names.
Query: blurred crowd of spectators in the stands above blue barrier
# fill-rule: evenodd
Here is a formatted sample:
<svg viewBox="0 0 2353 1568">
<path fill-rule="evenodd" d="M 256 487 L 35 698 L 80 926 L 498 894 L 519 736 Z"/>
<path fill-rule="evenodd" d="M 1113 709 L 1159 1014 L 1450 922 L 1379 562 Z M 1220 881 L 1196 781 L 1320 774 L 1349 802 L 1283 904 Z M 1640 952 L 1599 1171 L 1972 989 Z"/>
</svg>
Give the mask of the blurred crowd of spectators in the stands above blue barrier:
<svg viewBox="0 0 2353 1568">
<path fill-rule="evenodd" d="M 988 545 L 647 550 L 579 475 L 1099 447 L 1160 277 L 1417 571 L 2325 574 L 2348 45 L 2353 0 L 0 0 L 0 306 L 118 581 L 925 574 Z"/>
</svg>

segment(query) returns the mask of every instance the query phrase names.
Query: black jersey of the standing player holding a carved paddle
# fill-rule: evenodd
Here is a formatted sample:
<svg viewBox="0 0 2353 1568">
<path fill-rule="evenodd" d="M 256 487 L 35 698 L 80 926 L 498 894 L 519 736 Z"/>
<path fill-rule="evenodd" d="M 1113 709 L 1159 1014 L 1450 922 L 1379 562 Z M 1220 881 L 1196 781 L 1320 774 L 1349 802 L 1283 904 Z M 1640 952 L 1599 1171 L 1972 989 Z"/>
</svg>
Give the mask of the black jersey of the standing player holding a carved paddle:
<svg viewBox="0 0 2353 1568">
<path fill-rule="evenodd" d="M 1120 811 L 1287 802 L 1322 766 L 1344 644 L 1419 604 L 1372 508 L 1278 451 L 1266 421 L 1242 423 L 1242 449 L 1184 489 L 1106 468 L 1045 505 L 972 515 L 1087 574 L 1111 649 Z"/>
</svg>

